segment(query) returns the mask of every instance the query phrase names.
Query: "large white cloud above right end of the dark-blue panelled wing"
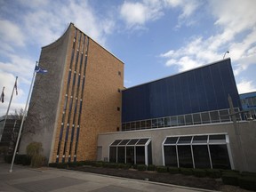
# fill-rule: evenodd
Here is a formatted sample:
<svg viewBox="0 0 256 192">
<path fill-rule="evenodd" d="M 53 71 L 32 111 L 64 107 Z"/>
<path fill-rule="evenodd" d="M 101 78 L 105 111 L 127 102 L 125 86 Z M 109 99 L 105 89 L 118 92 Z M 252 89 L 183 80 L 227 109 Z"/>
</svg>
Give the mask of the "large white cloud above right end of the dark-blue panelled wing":
<svg viewBox="0 0 256 192">
<path fill-rule="evenodd" d="M 180 5 L 180 1 L 170 2 L 172 6 Z M 256 64 L 256 4 L 253 0 L 243 3 L 238 0 L 209 2 L 209 10 L 212 10 L 212 16 L 216 20 L 217 33 L 208 37 L 192 37 L 180 49 L 171 49 L 160 56 L 167 59 L 166 66 L 177 66 L 179 71 L 183 71 L 221 60 L 228 49 L 230 53 L 226 57 L 230 57 L 236 64 L 235 75 L 238 75 L 250 65 Z"/>
</svg>

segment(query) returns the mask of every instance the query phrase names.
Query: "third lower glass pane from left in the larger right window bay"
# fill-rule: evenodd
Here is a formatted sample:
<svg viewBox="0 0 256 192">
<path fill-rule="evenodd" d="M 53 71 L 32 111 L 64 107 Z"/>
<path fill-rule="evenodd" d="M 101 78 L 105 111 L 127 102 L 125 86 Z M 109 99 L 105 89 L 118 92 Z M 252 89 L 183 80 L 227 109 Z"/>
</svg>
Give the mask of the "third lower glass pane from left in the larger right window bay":
<svg viewBox="0 0 256 192">
<path fill-rule="evenodd" d="M 207 145 L 194 145 L 192 148 L 195 168 L 211 168 Z"/>
</svg>

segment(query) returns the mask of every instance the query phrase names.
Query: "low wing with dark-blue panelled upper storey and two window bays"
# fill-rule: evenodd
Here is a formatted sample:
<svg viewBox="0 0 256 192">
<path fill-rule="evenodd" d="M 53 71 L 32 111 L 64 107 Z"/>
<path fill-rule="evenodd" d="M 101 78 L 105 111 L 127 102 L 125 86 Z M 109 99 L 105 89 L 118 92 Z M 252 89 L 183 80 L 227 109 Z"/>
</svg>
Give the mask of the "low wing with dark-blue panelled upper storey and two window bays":
<svg viewBox="0 0 256 192">
<path fill-rule="evenodd" d="M 98 160 L 256 172 L 230 59 L 122 93 L 123 132 L 100 133 Z"/>
</svg>

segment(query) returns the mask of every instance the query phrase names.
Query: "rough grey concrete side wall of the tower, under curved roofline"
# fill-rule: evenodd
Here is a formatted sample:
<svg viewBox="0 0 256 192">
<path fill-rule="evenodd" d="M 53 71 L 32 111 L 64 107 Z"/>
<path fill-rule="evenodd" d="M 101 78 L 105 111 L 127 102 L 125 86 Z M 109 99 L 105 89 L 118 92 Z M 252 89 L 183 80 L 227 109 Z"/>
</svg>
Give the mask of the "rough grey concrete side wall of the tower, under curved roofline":
<svg viewBox="0 0 256 192">
<path fill-rule="evenodd" d="M 37 141 L 43 144 L 44 156 L 50 157 L 69 35 L 70 28 L 56 42 L 42 48 L 39 66 L 48 73 L 36 75 L 21 137 L 21 154 L 26 153 L 30 142 Z"/>
</svg>

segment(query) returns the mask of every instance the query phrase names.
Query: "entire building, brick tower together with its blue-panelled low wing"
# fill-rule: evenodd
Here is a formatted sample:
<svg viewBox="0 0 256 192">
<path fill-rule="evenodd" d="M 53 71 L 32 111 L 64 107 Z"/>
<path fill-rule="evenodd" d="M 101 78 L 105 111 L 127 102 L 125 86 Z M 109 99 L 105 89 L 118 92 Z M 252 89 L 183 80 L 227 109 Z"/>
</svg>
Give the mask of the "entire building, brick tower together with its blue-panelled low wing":
<svg viewBox="0 0 256 192">
<path fill-rule="evenodd" d="M 124 89 L 124 63 L 72 23 L 42 48 L 20 151 L 49 163 L 100 160 L 256 172 L 231 60 Z"/>
</svg>

